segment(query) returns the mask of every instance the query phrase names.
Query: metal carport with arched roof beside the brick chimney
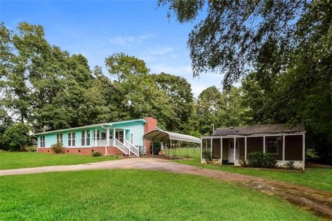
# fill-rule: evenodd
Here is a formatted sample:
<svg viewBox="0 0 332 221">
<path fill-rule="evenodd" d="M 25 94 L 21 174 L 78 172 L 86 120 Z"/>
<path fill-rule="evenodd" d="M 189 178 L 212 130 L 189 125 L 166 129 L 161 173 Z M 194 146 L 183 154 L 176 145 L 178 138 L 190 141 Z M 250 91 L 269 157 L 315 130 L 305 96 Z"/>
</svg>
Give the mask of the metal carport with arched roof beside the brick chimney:
<svg viewBox="0 0 332 221">
<path fill-rule="evenodd" d="M 183 142 L 186 143 L 187 152 L 188 152 L 188 143 L 190 144 L 201 144 L 201 139 L 197 137 L 193 137 L 191 135 L 185 135 L 182 133 L 174 133 L 169 131 L 162 131 L 162 130 L 154 130 L 150 131 L 149 133 L 146 133 L 143 135 L 143 140 L 147 140 L 151 142 L 151 148 L 152 148 L 152 155 L 154 154 L 154 142 L 160 142 L 163 144 L 163 147 L 168 146 L 169 149 L 169 157 L 172 160 L 172 148 L 175 148 L 176 151 L 176 144 L 181 148 L 181 144 Z M 176 152 L 175 152 L 176 155 Z"/>
</svg>

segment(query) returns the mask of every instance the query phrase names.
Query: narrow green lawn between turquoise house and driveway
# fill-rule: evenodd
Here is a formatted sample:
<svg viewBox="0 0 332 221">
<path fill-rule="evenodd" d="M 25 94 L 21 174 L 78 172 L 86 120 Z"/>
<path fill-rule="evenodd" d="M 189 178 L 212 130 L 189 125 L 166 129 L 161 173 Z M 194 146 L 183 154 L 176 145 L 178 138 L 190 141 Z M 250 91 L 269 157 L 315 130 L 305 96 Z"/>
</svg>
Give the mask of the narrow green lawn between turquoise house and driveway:
<svg viewBox="0 0 332 221">
<path fill-rule="evenodd" d="M 118 158 L 113 156 L 92 157 L 91 155 L 0 151 L 0 170 L 36 166 L 86 164 L 116 159 Z"/>
</svg>

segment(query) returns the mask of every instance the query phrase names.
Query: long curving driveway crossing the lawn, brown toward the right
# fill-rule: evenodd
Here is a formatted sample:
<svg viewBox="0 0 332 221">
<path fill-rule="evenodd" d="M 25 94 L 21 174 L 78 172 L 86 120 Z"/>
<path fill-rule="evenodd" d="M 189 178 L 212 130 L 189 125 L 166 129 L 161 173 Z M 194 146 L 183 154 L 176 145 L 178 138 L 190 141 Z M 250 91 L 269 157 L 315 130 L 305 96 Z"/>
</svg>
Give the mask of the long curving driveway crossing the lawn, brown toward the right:
<svg viewBox="0 0 332 221">
<path fill-rule="evenodd" d="M 201 169 L 196 166 L 177 164 L 169 160 L 158 158 L 127 158 L 91 164 L 78 164 L 68 166 L 42 166 L 25 169 L 11 169 L 0 171 L 3 175 L 19 175 L 30 173 L 47 173 L 54 171 L 84 171 L 91 169 L 144 169 L 152 171 L 167 171 L 171 173 L 183 173 L 212 177 L 223 182 L 232 182 L 250 189 L 256 189 L 268 195 L 276 195 L 302 209 L 312 211 L 322 218 L 332 220 L 332 192 L 297 186 L 286 182 L 266 180 L 261 177 L 228 173 L 210 169 Z"/>
</svg>

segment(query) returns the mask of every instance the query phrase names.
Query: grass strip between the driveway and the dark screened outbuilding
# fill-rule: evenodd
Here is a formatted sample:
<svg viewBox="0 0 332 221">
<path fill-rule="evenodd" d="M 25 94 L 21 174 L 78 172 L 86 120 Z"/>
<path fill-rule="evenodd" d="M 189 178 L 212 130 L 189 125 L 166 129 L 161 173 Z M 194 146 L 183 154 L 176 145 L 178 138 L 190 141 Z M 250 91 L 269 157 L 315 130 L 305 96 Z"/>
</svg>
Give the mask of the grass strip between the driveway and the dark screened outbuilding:
<svg viewBox="0 0 332 221">
<path fill-rule="evenodd" d="M 212 166 L 200 164 L 199 158 L 194 160 L 173 160 L 181 164 L 200 166 L 205 169 L 214 169 L 220 171 L 228 171 L 231 173 L 241 173 L 253 175 L 257 177 L 265 177 L 272 180 L 280 180 L 290 182 L 302 186 L 308 186 L 326 191 L 332 191 L 332 169 L 306 169 L 304 173 L 301 171 L 271 171 L 253 168 L 243 168 L 239 166 Z"/>
</svg>

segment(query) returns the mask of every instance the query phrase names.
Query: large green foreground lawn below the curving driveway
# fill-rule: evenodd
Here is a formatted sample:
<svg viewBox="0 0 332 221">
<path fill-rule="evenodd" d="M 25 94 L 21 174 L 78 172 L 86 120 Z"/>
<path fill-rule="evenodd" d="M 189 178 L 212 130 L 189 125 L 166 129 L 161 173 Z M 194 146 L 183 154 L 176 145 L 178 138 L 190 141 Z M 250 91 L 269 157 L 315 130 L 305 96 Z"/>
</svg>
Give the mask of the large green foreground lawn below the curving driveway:
<svg viewBox="0 0 332 221">
<path fill-rule="evenodd" d="M 0 220 L 319 220 L 207 177 L 137 170 L 1 177 Z"/>
</svg>

